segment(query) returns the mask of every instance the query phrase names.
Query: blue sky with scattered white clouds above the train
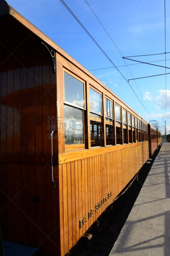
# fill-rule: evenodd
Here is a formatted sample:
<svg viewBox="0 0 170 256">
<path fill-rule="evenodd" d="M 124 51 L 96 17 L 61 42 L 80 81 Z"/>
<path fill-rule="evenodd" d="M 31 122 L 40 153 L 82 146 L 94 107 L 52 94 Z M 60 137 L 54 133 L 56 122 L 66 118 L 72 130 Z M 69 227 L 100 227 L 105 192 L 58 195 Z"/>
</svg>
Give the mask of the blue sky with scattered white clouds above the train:
<svg viewBox="0 0 170 256">
<path fill-rule="evenodd" d="M 170 130 L 170 74 L 130 81 L 133 90 L 151 113 L 148 115 L 129 84 L 104 56 L 60 0 L 9 0 L 7 1 L 25 18 L 52 38 L 75 60 L 79 61 L 124 100 L 146 121 L 157 120 L 163 132 L 166 120 Z M 107 30 L 122 56 L 134 56 L 165 52 L 165 18 L 163 0 L 87 0 L 98 19 Z M 84 27 L 107 53 L 121 73 L 131 79 L 164 74 L 165 68 L 124 60 L 96 19 L 85 0 L 65 0 Z M 166 1 L 166 52 L 170 52 L 170 2 Z M 131 58 L 165 66 L 165 54 Z M 170 53 L 166 54 L 166 66 L 170 67 Z M 129 71 L 130 70 L 130 71 Z M 170 69 L 166 69 L 170 73 Z M 136 84 L 135 84 L 136 83 Z M 166 91 L 165 91 L 166 89 Z M 165 96 L 166 95 L 166 96 Z M 143 97 L 143 99 L 142 99 Z M 165 104 L 166 102 L 166 104 Z M 147 106 L 146 106 L 146 105 Z M 148 110 L 149 109 L 149 110 Z"/>
</svg>

